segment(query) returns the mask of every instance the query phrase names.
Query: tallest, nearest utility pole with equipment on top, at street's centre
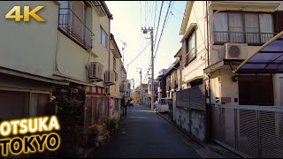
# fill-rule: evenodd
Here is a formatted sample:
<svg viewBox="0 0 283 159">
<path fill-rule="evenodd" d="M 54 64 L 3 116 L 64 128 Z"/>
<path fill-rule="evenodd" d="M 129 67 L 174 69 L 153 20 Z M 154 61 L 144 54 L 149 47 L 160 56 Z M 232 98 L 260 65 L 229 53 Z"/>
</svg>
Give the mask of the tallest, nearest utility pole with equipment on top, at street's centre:
<svg viewBox="0 0 283 159">
<path fill-rule="evenodd" d="M 146 27 L 142 28 L 143 34 L 148 34 L 148 31 L 150 32 L 150 39 L 151 39 L 151 111 L 153 111 L 153 105 L 154 105 L 154 57 L 153 57 L 153 27 L 149 27 L 148 29 Z M 147 38 L 149 39 L 149 38 Z"/>
</svg>

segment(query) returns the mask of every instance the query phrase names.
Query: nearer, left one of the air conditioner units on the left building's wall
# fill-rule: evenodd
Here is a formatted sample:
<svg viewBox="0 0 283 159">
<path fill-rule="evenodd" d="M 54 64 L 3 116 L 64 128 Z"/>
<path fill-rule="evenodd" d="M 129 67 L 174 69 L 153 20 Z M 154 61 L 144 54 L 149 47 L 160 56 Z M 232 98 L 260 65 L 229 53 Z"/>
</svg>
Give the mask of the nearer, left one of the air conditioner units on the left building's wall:
<svg viewBox="0 0 283 159">
<path fill-rule="evenodd" d="M 103 64 L 91 62 L 88 65 L 88 79 L 94 81 L 103 80 Z"/>
</svg>

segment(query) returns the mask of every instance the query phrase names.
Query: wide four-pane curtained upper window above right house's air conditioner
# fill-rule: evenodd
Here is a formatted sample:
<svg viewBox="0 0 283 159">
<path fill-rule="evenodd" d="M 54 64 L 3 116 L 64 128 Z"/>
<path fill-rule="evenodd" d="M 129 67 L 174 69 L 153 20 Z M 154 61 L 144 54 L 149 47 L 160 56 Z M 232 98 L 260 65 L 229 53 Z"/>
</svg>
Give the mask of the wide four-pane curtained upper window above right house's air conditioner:
<svg viewBox="0 0 283 159">
<path fill-rule="evenodd" d="M 270 13 L 220 11 L 214 16 L 214 42 L 243 42 L 261 44 L 269 41 L 273 33 Z"/>
</svg>

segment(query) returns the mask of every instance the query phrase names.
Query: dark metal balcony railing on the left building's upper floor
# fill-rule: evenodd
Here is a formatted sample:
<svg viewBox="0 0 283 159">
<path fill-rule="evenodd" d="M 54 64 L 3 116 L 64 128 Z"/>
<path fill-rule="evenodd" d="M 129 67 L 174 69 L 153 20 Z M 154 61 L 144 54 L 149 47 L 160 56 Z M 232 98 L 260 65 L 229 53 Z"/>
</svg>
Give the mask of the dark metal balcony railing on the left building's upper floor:
<svg viewBox="0 0 283 159">
<path fill-rule="evenodd" d="M 70 8 L 60 8 L 59 30 L 81 47 L 92 49 L 92 37 L 95 34 Z"/>
</svg>

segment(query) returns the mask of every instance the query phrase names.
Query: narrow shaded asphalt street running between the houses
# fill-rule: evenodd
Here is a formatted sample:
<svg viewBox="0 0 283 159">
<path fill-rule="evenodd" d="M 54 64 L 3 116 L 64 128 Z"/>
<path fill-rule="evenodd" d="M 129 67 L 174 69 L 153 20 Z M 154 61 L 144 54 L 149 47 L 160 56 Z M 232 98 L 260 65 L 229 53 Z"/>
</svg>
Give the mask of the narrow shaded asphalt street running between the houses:
<svg viewBox="0 0 283 159">
<path fill-rule="evenodd" d="M 202 158 L 176 130 L 144 106 L 129 107 L 119 131 L 93 152 L 96 158 Z"/>
</svg>

